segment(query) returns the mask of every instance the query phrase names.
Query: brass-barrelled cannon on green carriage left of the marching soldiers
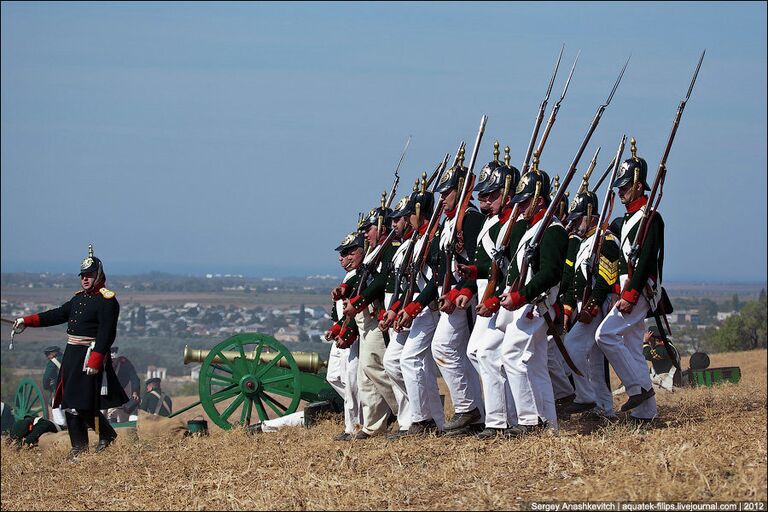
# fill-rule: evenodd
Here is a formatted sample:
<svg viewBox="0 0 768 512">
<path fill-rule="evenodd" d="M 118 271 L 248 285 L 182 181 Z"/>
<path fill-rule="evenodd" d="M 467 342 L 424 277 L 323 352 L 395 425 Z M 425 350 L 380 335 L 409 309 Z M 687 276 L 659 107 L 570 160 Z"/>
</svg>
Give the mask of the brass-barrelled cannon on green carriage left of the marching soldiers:
<svg viewBox="0 0 768 512">
<path fill-rule="evenodd" d="M 208 417 L 229 430 L 296 412 L 303 401 L 343 399 L 325 380 L 327 363 L 316 352 L 291 352 L 271 336 L 243 333 L 210 350 L 184 348 L 184 364 L 201 363 L 200 400 L 171 416 L 202 405 Z"/>
</svg>

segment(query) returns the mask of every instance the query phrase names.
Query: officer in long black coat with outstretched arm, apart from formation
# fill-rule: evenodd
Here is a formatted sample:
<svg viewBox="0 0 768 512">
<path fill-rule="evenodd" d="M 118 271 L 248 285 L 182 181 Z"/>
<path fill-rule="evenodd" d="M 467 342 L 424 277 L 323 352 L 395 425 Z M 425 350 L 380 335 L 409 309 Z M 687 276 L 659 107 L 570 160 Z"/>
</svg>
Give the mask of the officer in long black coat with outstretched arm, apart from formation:
<svg viewBox="0 0 768 512">
<path fill-rule="evenodd" d="M 112 368 L 110 348 L 117 335 L 120 305 L 115 292 L 105 287 L 106 276 L 99 258 L 88 246 L 80 264 L 82 290 L 56 309 L 19 318 L 18 333 L 26 327 L 48 327 L 65 322 L 67 348 L 56 382 L 53 406 L 65 410 L 72 450 L 69 457 L 88 450 L 88 427 L 98 433 L 99 452 L 117 437 L 100 409 L 119 407 L 128 401 Z M 98 421 L 97 421 L 98 419 Z"/>
</svg>

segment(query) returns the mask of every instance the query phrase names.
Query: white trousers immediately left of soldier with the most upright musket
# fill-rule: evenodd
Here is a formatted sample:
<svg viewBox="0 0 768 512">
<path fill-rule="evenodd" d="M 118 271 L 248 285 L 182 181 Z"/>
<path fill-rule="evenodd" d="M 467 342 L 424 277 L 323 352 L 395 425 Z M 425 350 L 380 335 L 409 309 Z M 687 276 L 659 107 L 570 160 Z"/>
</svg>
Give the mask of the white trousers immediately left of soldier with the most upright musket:
<svg viewBox="0 0 768 512">
<path fill-rule="evenodd" d="M 413 319 L 400 355 L 400 368 L 411 408 L 411 423 L 432 419 L 442 430 L 445 412 L 437 387 L 437 366 L 432 358 L 432 337 L 438 313 L 424 308 Z"/>
</svg>

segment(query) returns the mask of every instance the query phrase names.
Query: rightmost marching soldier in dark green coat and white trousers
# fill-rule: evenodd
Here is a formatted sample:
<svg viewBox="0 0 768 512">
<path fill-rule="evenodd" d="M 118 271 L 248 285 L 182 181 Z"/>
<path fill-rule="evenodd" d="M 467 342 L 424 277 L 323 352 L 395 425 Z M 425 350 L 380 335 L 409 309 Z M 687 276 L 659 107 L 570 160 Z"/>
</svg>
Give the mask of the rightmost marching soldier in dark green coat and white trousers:
<svg viewBox="0 0 768 512">
<path fill-rule="evenodd" d="M 635 139 L 631 140 L 632 157 L 621 164 L 612 187 L 619 189 L 619 198 L 627 213 L 620 226 L 619 246 L 622 292 L 619 301 L 597 328 L 597 344 L 627 390 L 629 399 L 621 412 L 632 411 L 630 421 L 648 423 L 657 414 L 656 399 L 648 367 L 643 357 L 645 318 L 652 312 L 661 291 L 664 264 L 664 221 L 656 212 L 647 237 L 637 255 L 637 266 L 630 268 L 630 251 L 645 212 L 650 190 L 646 179 L 648 164 L 637 156 Z M 630 270 L 632 275 L 629 275 Z"/>
</svg>

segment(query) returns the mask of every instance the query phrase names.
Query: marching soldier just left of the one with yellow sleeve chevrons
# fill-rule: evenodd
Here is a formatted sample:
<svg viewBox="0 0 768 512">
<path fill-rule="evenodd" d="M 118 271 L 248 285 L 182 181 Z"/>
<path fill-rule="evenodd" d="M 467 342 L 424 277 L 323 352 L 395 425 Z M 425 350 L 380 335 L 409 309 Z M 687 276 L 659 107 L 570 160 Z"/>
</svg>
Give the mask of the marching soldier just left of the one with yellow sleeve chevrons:
<svg viewBox="0 0 768 512">
<path fill-rule="evenodd" d="M 512 203 L 519 203 L 528 220 L 528 230 L 516 247 L 510 245 L 511 263 L 507 282 L 519 276 L 528 242 L 542 222 L 549 197 L 549 177 L 538 169 L 534 156 L 532 169 L 523 176 Z M 562 277 L 568 235 L 557 218 L 546 227 L 541 243 L 528 260 L 526 282 L 516 291 L 509 290 L 501 301 L 504 311 L 496 328 L 504 330 L 501 355 L 517 409 L 518 425 L 507 430 L 519 436 L 544 426 L 557 429 L 555 399 L 547 369 L 547 331 L 545 314 L 556 317 L 556 301 Z"/>
</svg>

